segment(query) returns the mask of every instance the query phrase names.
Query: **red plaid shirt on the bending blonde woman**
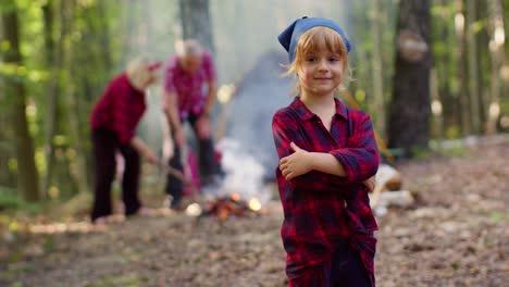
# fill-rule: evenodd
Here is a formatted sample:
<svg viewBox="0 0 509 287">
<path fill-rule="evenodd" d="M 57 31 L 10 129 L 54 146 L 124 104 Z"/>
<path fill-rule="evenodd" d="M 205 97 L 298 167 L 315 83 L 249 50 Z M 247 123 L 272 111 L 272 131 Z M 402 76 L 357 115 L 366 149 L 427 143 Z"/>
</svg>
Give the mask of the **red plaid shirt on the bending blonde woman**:
<svg viewBox="0 0 509 287">
<path fill-rule="evenodd" d="M 110 82 L 90 115 L 92 128 L 113 130 L 121 145 L 129 142 L 146 109 L 145 92 L 134 88 L 125 73 Z"/>
</svg>

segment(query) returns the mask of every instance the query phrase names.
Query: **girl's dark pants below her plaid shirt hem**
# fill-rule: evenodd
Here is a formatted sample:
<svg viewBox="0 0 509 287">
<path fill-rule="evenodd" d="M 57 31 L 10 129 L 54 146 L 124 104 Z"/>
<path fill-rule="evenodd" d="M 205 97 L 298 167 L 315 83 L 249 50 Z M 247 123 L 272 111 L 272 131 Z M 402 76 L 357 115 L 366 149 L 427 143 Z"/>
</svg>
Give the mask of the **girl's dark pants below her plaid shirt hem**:
<svg viewBox="0 0 509 287">
<path fill-rule="evenodd" d="M 359 252 L 342 241 L 331 260 L 312 266 L 289 279 L 291 287 L 374 287 L 374 278 L 365 270 Z"/>
</svg>

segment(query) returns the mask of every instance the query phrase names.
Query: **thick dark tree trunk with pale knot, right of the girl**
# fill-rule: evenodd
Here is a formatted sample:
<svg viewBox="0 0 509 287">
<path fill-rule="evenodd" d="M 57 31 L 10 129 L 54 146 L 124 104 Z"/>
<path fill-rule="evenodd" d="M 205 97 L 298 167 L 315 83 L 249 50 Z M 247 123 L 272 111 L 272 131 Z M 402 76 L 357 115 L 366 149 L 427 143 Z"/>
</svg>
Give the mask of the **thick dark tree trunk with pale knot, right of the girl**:
<svg viewBox="0 0 509 287">
<path fill-rule="evenodd" d="M 411 155 L 429 148 L 430 138 L 430 0 L 401 0 L 398 51 L 389 112 L 389 146 Z M 409 35 L 406 37 L 405 35 Z"/>
</svg>

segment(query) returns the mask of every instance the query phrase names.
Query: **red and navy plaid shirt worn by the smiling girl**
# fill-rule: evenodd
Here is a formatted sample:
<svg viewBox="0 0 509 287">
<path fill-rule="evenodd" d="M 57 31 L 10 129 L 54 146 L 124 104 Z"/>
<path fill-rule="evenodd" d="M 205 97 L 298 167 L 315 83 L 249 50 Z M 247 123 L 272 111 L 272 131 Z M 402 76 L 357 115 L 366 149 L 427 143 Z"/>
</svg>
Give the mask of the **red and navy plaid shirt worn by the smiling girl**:
<svg viewBox="0 0 509 287">
<path fill-rule="evenodd" d="M 348 238 L 373 275 L 377 225 L 362 182 L 376 174 L 380 157 L 369 115 L 335 99 L 328 132 L 299 98 L 273 117 L 272 133 L 280 159 L 293 153 L 290 142 L 314 152 L 328 152 L 346 176 L 312 171 L 286 180 L 276 169 L 285 220 L 281 229 L 287 252 L 287 274 L 295 277 L 328 260 L 338 238 Z"/>
</svg>

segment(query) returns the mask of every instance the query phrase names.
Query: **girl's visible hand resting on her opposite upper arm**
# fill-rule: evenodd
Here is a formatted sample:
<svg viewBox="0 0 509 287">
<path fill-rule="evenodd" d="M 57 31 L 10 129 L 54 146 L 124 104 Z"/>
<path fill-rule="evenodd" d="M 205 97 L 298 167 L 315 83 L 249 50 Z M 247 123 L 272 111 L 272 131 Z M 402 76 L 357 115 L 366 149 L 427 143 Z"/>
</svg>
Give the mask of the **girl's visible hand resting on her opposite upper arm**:
<svg viewBox="0 0 509 287">
<path fill-rule="evenodd" d="M 311 153 L 297 147 L 294 142 L 290 144 L 290 147 L 295 152 L 280 161 L 280 171 L 286 180 L 307 174 L 312 170 Z"/>
</svg>

